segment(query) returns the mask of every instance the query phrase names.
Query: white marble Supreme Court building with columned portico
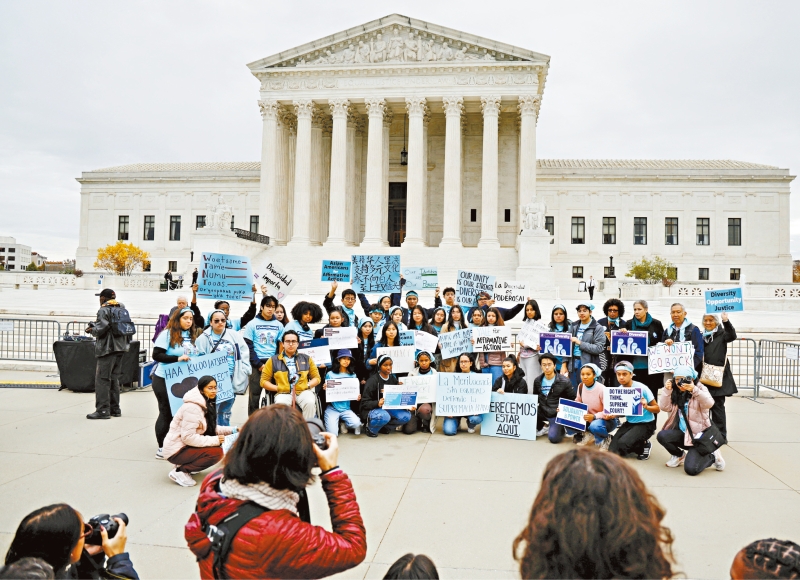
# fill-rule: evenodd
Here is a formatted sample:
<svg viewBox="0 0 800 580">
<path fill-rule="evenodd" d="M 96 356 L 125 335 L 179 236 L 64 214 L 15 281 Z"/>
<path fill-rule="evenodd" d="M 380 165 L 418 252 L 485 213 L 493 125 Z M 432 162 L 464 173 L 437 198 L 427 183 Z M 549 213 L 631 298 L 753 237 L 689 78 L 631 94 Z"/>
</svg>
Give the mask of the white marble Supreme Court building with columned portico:
<svg viewBox="0 0 800 580">
<path fill-rule="evenodd" d="M 251 236 L 255 260 L 315 280 L 320 259 L 389 252 L 514 279 L 526 211 L 543 214 L 556 284 L 656 254 L 680 280 L 791 280 L 787 169 L 537 159 L 549 60 L 395 14 L 250 63 L 260 163 L 84 172 L 78 267 L 125 239 L 154 271 L 189 271 L 223 205 L 237 232 L 269 237 Z"/>
</svg>

